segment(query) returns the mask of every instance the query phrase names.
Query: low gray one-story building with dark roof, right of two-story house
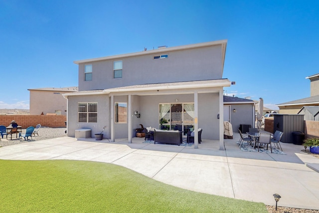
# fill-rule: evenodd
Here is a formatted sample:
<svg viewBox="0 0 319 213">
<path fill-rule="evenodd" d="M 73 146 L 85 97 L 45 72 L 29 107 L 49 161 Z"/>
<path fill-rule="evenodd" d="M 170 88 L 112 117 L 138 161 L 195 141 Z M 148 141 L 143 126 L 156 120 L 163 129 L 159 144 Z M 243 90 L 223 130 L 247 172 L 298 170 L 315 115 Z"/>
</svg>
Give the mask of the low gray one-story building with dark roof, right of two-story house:
<svg viewBox="0 0 319 213">
<path fill-rule="evenodd" d="M 245 98 L 224 96 L 224 121 L 229 121 L 233 132 L 241 124 L 255 127 L 255 101 Z"/>
</svg>

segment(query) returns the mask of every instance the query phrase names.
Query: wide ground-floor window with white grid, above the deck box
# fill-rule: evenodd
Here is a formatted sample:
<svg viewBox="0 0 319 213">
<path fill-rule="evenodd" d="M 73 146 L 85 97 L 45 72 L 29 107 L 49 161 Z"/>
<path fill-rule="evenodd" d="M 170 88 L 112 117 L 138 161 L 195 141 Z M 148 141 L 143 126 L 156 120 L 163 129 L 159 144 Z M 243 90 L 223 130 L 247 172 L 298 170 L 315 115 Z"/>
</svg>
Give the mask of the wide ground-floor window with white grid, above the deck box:
<svg viewBox="0 0 319 213">
<path fill-rule="evenodd" d="M 97 123 L 98 103 L 78 103 L 78 122 Z"/>
</svg>

